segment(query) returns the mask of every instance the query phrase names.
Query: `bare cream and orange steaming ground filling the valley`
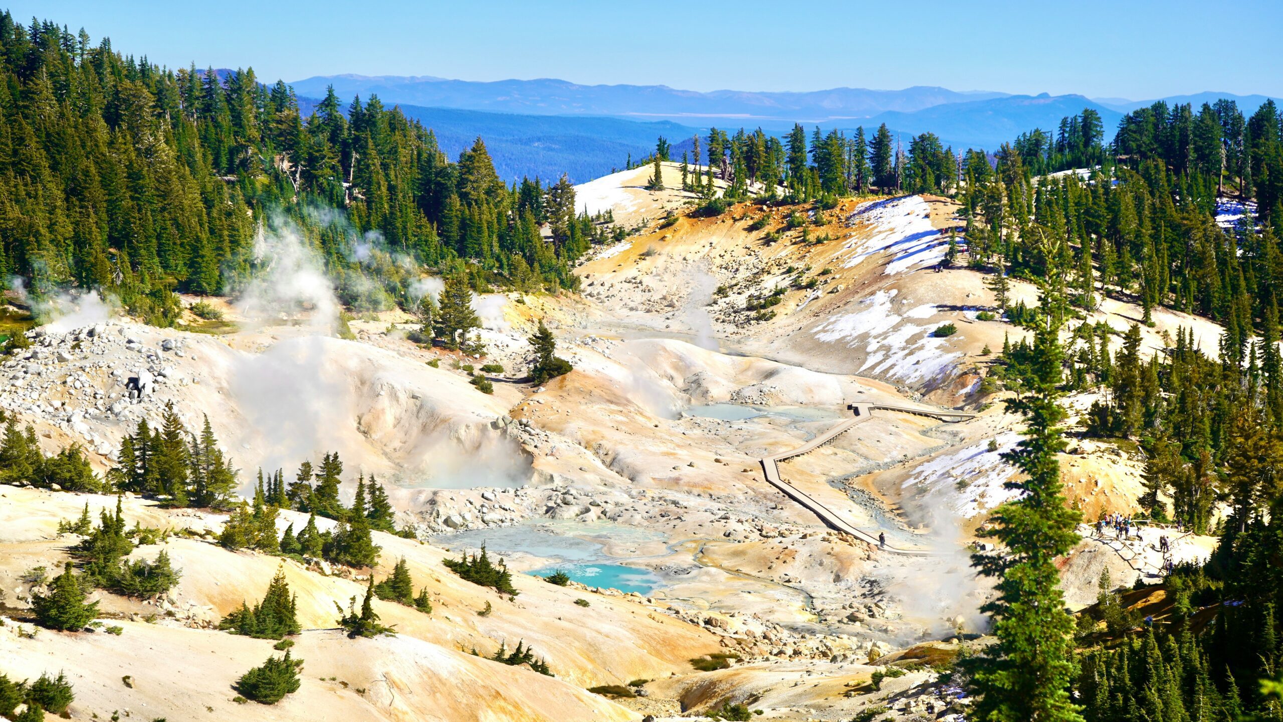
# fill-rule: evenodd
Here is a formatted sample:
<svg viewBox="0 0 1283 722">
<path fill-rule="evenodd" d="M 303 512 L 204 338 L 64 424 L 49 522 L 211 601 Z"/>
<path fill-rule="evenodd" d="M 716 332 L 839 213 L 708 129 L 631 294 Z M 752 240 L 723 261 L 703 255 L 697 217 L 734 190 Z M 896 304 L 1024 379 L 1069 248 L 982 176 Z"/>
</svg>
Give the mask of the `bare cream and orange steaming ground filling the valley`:
<svg viewBox="0 0 1283 722">
<path fill-rule="evenodd" d="M 81 443 L 106 468 L 121 436 L 139 420 L 157 423 L 172 401 L 189 428 L 209 416 L 246 483 L 258 468 L 291 475 L 300 461 L 337 451 L 345 493 L 359 474 L 389 487 L 398 522 L 429 543 L 380 534 L 378 574 L 404 555 L 416 579 L 431 579 L 438 612 L 422 618 L 380 605 L 399 636 L 352 642 L 361 647 L 353 651 L 325 628 L 334 624 L 332 601 L 345 601 L 361 581 L 287 563 L 309 627 L 298 647 L 308 659 L 308 695 L 273 710 L 281 719 L 316 718 L 316 705 L 302 701 L 316 695 L 334 700 L 322 717 L 381 719 L 663 718 L 727 700 L 749 700 L 767 719 L 849 719 L 874 704 L 906 718 L 928 704 L 956 705 L 921 672 L 887 681 L 880 694 L 852 691 L 872 660 L 907 664 L 924 654 L 920 642 L 934 645 L 930 654 L 953 654 L 958 631 L 983 631 L 976 609 L 989 591 L 970 572 L 967 545 L 987 510 L 1010 497 L 1002 484 L 1011 471 L 998 455 L 1019 439 L 1019 420 L 1001 403 L 987 406 L 996 398 L 980 391 L 992 358 L 984 347 L 1001 348 L 1011 326 L 976 317 L 993 304 L 978 274 L 931 270 L 958 225 L 953 208 L 924 197 L 848 202 L 806 238 L 785 227 L 788 209 L 748 206 L 661 229 L 658 220 L 688 199 L 642 189 L 648 172 L 581 186 L 584 204 L 642 227 L 579 269 L 581 297 L 475 298 L 485 357 L 409 342 L 414 325 L 400 312 L 354 320 L 355 338 L 336 338 L 339 304 L 318 260 L 289 227 L 272 227 L 255 243 L 258 274 L 234 298 L 210 299 L 225 324 L 189 315 L 176 330 L 154 329 L 112 316 L 96 297 L 67 299 L 51 312 L 60 317 L 33 334 L 33 348 L 0 366 L 9 379 L 0 407 L 31 423 L 46 451 Z M 665 173 L 670 189 L 680 188 L 675 167 Z M 765 226 L 749 230 L 763 213 Z M 358 261 L 387 253 L 378 238 L 353 236 L 352 247 Z M 436 294 L 440 281 L 422 276 L 411 288 Z M 1032 289 L 1017 284 L 1016 294 L 1029 298 Z M 1139 317 L 1112 301 L 1097 316 L 1119 329 Z M 1196 319 L 1166 311 L 1155 319 L 1144 330 L 1150 347 L 1178 325 L 1215 339 Z M 539 320 L 575 371 L 532 388 L 520 379 L 525 338 Z M 946 321 L 958 333 L 933 337 Z M 468 383 L 458 367 L 468 364 L 503 366 L 490 374 L 494 394 Z M 131 379 L 150 379 L 141 398 L 131 398 Z M 937 554 L 898 556 L 834 533 L 762 479 L 758 459 L 806 443 L 848 418 L 856 400 L 978 411 L 961 424 L 879 411 L 780 465 L 790 483 L 853 524 Z M 1091 401 L 1083 394 L 1071 405 L 1082 411 Z M 1141 461 L 1129 452 L 1082 441 L 1062 461 L 1089 518 L 1134 509 Z M 58 536 L 56 520 L 78 513 L 85 497 L 0 493 L 0 588 L 13 590 L 4 604 L 21 614 L 31 588 L 18 577 L 60 564 L 74 538 Z M 126 516 L 194 529 L 223 523 L 135 498 Z M 299 522 L 284 516 L 282 527 Z M 656 586 L 626 596 L 517 574 L 518 601 L 495 600 L 482 618 L 475 610 L 491 600 L 440 565 L 444 547 L 453 554 L 481 542 L 517 572 L 626 564 Z M 1193 558 L 1205 546 L 1189 540 L 1179 549 Z M 0 671 L 21 678 L 71 654 L 65 668 L 83 690 L 77 716 L 145 704 L 149 718 L 177 718 L 169 700 L 198 699 L 222 717 L 249 718 L 227 703 L 226 686 L 267 645 L 208 626 L 257 597 L 277 560 L 198 540 L 168 547 L 185 569 L 174 599 L 159 606 L 104 599 L 106 613 L 127 621 L 123 641 L 4 632 Z M 1120 583 L 1146 574 L 1144 554 L 1084 541 L 1065 560 L 1069 601 L 1094 599 L 1101 568 Z M 576 596 L 591 606 L 568 606 Z M 142 621 L 157 609 L 166 614 L 157 624 Z M 521 638 L 548 658 L 557 680 L 464 651 Z M 140 646 L 182 658 L 191 673 L 126 690 L 122 667 L 144 678 Z M 207 649 L 208 662 L 185 654 Z M 730 669 L 693 671 L 692 658 L 716 651 L 739 659 Z M 648 696 L 613 703 L 582 691 L 635 678 L 656 680 Z M 470 690 L 467 699 L 453 689 Z"/>
</svg>

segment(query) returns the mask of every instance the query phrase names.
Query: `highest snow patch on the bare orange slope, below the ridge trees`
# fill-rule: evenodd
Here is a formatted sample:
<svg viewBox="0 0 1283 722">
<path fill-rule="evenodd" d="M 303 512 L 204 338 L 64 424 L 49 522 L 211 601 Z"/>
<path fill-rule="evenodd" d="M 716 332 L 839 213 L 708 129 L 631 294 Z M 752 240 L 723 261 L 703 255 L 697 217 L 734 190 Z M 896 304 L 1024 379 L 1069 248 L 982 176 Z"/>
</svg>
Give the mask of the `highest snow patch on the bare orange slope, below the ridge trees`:
<svg viewBox="0 0 1283 722">
<path fill-rule="evenodd" d="M 944 260 L 948 240 L 931 225 L 926 200 L 921 195 L 907 195 L 889 200 L 875 200 L 856 208 L 852 224 L 869 226 L 865 238 L 851 236 L 843 251 L 851 251 L 843 267 L 860 265 L 870 256 L 890 252 L 888 275 L 903 274 L 924 266 L 934 266 Z"/>
</svg>

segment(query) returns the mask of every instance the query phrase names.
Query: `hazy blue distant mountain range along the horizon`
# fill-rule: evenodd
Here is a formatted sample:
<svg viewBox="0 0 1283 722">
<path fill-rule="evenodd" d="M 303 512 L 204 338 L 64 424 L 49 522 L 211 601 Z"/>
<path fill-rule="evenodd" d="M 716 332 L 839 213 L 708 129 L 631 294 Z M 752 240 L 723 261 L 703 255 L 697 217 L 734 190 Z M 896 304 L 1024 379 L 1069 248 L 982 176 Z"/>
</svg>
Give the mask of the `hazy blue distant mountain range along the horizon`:
<svg viewBox="0 0 1283 722">
<path fill-rule="evenodd" d="M 1124 113 L 1156 100 L 1091 99 L 1083 95 L 1012 95 L 915 86 L 905 90 L 835 87 L 804 92 L 715 90 L 698 92 L 662 85 L 577 85 L 563 80 L 475 82 L 430 76 L 316 76 L 291 84 L 303 112 L 334 86 L 344 105 L 353 95 L 376 94 L 436 132 L 452 157 L 481 136 L 500 177 L 545 180 L 568 173 L 582 182 L 639 159 L 663 135 L 677 148 L 708 127 L 756 128 L 781 134 L 801 122 L 808 128 L 871 132 L 880 123 L 903 136 L 934 132 L 955 150 L 993 150 L 1021 132 L 1055 131 L 1060 119 L 1094 108 L 1106 137 Z M 1215 103 L 1229 98 L 1252 113 L 1268 98 L 1197 92 L 1162 98 L 1169 104 Z M 1278 100 L 1275 99 L 1278 103 Z"/>
</svg>

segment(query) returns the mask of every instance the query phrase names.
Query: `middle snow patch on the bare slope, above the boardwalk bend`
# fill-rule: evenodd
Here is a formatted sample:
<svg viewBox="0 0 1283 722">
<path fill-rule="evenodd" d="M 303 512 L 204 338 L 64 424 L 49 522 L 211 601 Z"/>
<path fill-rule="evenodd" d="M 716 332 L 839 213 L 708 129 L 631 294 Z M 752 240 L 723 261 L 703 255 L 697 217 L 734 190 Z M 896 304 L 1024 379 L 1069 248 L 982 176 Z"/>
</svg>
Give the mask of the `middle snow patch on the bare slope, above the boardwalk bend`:
<svg viewBox="0 0 1283 722">
<path fill-rule="evenodd" d="M 847 342 L 847 348 L 863 344 L 866 357 L 861 374 L 867 371 L 907 383 L 938 380 L 962 355 L 944 351 L 947 340 L 931 335 L 934 325 L 903 322 L 931 317 L 935 306 L 926 303 L 896 313 L 892 306 L 897 293 L 896 289 L 879 290 L 863 298 L 860 304 L 865 308 L 824 321 L 815 328 L 815 338 L 825 343 Z"/>
</svg>

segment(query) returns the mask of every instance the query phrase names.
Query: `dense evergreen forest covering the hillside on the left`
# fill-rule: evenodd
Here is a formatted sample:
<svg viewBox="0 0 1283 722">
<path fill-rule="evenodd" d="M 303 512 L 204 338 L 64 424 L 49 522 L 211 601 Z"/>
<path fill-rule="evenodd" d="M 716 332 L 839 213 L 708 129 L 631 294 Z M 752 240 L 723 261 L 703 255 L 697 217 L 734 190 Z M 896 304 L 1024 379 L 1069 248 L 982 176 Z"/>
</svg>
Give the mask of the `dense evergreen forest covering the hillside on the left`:
<svg viewBox="0 0 1283 722">
<path fill-rule="evenodd" d="M 358 260 L 357 240 L 466 267 L 475 285 L 540 288 L 574 285 L 570 262 L 604 233 L 575 218 L 565 179 L 508 186 L 481 139 L 450 162 L 431 130 L 377 98 L 340 108 L 330 94 L 302 117 L 285 84 L 251 69 L 160 68 L 8 13 L 0 78 L 0 272 L 37 289 L 98 286 L 153 322 L 173 319 L 176 290 L 245 277 L 275 212 L 323 256 L 345 301 L 375 306 L 399 299 L 404 279 L 395 263 Z M 375 266 L 381 284 L 353 277 Z M 385 293 L 355 290 L 371 285 Z"/>
</svg>

